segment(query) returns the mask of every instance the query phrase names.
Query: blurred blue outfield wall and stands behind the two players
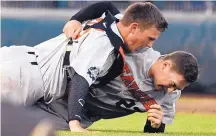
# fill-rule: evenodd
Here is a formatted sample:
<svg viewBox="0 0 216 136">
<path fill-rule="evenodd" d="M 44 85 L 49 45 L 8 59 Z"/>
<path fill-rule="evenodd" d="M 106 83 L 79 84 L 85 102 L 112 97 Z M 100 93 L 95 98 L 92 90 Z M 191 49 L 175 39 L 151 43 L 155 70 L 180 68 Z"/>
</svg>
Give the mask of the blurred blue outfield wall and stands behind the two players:
<svg viewBox="0 0 216 136">
<path fill-rule="evenodd" d="M 1 1 L 1 45 L 33 46 L 57 36 L 64 24 L 96 1 Z M 113 1 L 123 10 L 135 1 Z M 156 41 L 161 53 L 185 50 L 200 64 L 200 78 L 185 92 L 216 94 L 216 2 L 154 1 L 169 21 Z"/>
</svg>

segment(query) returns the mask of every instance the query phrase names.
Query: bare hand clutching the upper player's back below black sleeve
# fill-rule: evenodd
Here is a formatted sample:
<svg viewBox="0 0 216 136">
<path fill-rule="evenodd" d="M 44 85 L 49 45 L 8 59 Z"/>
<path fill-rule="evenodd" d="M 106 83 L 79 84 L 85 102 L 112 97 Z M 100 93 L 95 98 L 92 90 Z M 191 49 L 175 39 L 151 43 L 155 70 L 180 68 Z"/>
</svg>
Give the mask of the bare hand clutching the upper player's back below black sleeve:
<svg viewBox="0 0 216 136">
<path fill-rule="evenodd" d="M 77 38 L 81 30 L 82 30 L 82 25 L 77 20 L 68 21 L 63 28 L 63 32 L 66 34 L 67 38 L 74 38 L 74 39 Z"/>
</svg>

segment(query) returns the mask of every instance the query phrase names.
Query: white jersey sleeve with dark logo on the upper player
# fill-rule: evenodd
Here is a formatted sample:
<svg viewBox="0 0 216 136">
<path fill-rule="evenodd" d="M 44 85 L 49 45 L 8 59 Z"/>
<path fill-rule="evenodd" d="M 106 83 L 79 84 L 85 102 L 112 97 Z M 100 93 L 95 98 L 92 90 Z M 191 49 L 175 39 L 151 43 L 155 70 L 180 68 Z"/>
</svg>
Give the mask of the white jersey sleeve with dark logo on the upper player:
<svg viewBox="0 0 216 136">
<path fill-rule="evenodd" d="M 111 63 L 109 56 L 113 52 L 113 49 L 106 35 L 95 38 L 93 34 L 90 34 L 81 43 L 70 65 L 91 86 L 99 74 L 107 70 L 104 69 L 104 65 Z"/>
</svg>

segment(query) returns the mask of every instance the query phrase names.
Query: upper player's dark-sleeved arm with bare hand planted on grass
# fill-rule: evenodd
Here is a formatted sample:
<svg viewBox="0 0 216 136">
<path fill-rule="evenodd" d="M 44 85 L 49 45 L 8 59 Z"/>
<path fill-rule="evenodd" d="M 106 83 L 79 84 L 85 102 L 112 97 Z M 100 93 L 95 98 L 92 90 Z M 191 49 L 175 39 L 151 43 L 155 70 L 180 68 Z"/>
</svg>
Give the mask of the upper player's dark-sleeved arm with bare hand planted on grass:
<svg viewBox="0 0 216 136">
<path fill-rule="evenodd" d="M 68 123 L 70 130 L 73 132 L 86 132 L 87 130 L 81 127 L 82 107 L 85 104 L 85 97 L 88 94 L 89 84 L 85 78 L 77 74 L 70 67 L 67 70 L 71 74 L 71 81 L 68 83 Z"/>
</svg>

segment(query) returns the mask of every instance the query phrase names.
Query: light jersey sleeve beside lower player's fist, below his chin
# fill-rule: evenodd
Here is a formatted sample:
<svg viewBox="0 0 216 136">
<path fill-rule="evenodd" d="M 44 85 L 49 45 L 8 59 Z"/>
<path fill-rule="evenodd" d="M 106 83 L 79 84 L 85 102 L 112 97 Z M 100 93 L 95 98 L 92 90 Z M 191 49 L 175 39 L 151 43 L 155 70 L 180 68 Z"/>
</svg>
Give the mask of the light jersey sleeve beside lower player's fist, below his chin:
<svg viewBox="0 0 216 136">
<path fill-rule="evenodd" d="M 176 90 L 168 95 L 166 101 L 161 105 L 164 111 L 162 122 L 164 124 L 171 124 L 173 122 L 176 112 L 176 101 L 180 97 L 181 91 Z"/>
</svg>

